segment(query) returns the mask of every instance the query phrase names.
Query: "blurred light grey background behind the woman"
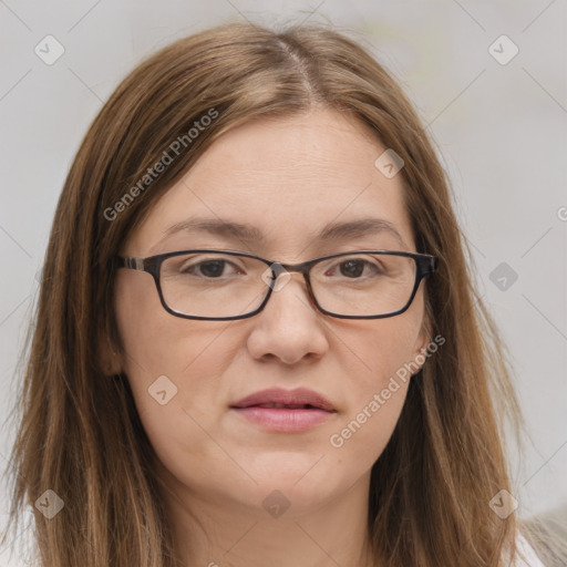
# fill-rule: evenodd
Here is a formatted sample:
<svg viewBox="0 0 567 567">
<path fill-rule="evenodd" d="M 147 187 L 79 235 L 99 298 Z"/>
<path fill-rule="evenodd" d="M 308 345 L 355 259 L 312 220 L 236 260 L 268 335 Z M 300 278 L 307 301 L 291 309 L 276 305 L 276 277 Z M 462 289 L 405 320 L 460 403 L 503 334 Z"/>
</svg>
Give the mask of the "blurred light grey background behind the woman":
<svg viewBox="0 0 567 567">
<path fill-rule="evenodd" d="M 478 287 L 514 357 L 533 439 L 524 462 L 511 455 L 518 513 L 565 505 L 565 0 L 0 0 L 0 419 L 13 403 L 35 277 L 86 127 L 141 58 L 183 35 L 245 18 L 332 22 L 352 31 L 404 85 L 450 173 Z M 48 34 L 65 50 L 52 65 L 34 53 Z M 502 34 L 519 49 L 507 64 L 488 51 Z M 512 48 L 501 41 L 493 49 L 502 59 Z M 501 262 L 518 276 L 506 290 L 491 280 Z M 12 432 L 2 431 L 2 466 L 11 440 Z M 0 561 L 7 565 L 4 554 Z"/>
</svg>

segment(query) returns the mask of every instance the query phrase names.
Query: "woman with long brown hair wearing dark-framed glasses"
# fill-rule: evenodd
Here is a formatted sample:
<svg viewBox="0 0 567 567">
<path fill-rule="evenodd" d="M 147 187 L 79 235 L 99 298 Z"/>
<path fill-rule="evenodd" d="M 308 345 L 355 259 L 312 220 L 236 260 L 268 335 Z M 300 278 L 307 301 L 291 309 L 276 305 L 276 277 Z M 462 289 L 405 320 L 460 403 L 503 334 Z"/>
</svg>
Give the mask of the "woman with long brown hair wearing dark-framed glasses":
<svg viewBox="0 0 567 567">
<path fill-rule="evenodd" d="M 229 24 L 142 63 L 45 258 L 12 508 L 41 565 L 540 565 L 464 249 L 423 126 L 346 37 Z"/>
</svg>

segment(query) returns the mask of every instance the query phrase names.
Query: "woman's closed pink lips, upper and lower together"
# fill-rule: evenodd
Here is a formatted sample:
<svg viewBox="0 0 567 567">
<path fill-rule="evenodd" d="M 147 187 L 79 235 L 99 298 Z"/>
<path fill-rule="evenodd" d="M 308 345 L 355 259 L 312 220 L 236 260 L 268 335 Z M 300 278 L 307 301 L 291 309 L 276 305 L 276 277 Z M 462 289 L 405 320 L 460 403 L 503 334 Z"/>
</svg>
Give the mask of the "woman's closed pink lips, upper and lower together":
<svg viewBox="0 0 567 567">
<path fill-rule="evenodd" d="M 274 404 L 284 408 L 269 406 Z M 230 408 L 268 431 L 288 433 L 306 431 L 337 413 L 327 399 L 305 388 L 264 390 L 244 398 Z"/>
</svg>

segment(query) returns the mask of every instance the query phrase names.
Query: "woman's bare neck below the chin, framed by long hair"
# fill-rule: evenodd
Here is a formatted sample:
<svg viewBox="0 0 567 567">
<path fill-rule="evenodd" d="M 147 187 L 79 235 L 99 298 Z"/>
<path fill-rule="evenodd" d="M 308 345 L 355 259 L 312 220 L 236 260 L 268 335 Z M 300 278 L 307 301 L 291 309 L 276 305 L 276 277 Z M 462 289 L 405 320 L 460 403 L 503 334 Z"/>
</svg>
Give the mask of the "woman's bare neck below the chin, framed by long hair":
<svg viewBox="0 0 567 567">
<path fill-rule="evenodd" d="M 286 499 L 276 493 L 249 506 L 175 484 L 164 497 L 182 565 L 373 567 L 367 526 L 369 478 L 330 495 L 317 509 L 290 503 L 284 512 Z"/>
</svg>

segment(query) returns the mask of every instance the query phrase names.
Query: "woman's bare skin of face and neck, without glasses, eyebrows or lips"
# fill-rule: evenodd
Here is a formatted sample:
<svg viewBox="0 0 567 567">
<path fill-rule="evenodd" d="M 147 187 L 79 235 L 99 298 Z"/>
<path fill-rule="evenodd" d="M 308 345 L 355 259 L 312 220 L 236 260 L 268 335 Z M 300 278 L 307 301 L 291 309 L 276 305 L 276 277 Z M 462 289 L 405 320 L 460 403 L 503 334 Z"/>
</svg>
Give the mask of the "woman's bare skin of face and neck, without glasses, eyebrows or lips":
<svg viewBox="0 0 567 567">
<path fill-rule="evenodd" d="M 415 251 L 402 177 L 386 178 L 374 166 L 384 150 L 362 124 L 330 110 L 235 127 L 154 205 L 121 254 L 204 247 L 299 262 L 360 249 Z M 189 216 L 248 223 L 267 243 L 206 233 L 161 241 Z M 388 233 L 312 239 L 328 221 L 368 216 L 389 220 L 404 245 Z M 187 565 L 370 565 L 370 470 L 393 432 L 409 381 L 399 381 L 400 389 L 341 447 L 329 440 L 429 343 L 423 293 L 422 284 L 400 316 L 343 320 L 317 311 L 302 276 L 293 274 L 255 317 L 198 321 L 166 312 L 150 275 L 118 270 L 115 309 L 124 352 L 114 371 L 130 380 Z M 159 375 L 178 389 L 165 405 L 148 394 Z M 306 432 L 274 433 L 229 409 L 274 386 L 315 390 L 337 412 Z M 275 489 L 290 503 L 279 517 L 262 506 Z"/>
</svg>

